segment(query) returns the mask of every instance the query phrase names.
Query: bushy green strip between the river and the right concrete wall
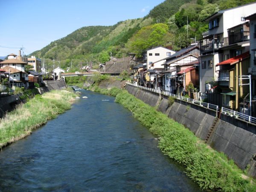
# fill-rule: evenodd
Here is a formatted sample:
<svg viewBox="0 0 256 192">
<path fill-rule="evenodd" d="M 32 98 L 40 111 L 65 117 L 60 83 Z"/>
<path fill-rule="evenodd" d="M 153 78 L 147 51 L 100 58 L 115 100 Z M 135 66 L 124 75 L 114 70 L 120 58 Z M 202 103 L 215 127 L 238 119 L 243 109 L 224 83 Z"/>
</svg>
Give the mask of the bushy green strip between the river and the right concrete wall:
<svg viewBox="0 0 256 192">
<path fill-rule="evenodd" d="M 244 175 L 232 160 L 206 145 L 183 125 L 143 103 L 127 91 L 116 102 L 128 108 L 153 134 L 160 137 L 159 148 L 186 166 L 186 174 L 202 189 L 227 192 L 256 191 L 256 181 Z"/>
</svg>

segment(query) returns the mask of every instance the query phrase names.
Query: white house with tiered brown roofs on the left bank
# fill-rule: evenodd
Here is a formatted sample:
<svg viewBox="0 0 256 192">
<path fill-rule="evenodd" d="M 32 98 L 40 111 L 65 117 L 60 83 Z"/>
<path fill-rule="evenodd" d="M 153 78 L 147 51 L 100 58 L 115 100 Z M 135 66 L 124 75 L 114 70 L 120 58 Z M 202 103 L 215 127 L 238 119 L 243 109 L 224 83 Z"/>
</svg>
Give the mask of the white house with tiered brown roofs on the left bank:
<svg viewBox="0 0 256 192">
<path fill-rule="evenodd" d="M 29 87 L 28 73 L 25 72 L 27 63 L 17 59 L 17 55 L 10 54 L 8 59 L 0 62 L 0 68 L 9 73 L 9 87 Z"/>
</svg>

